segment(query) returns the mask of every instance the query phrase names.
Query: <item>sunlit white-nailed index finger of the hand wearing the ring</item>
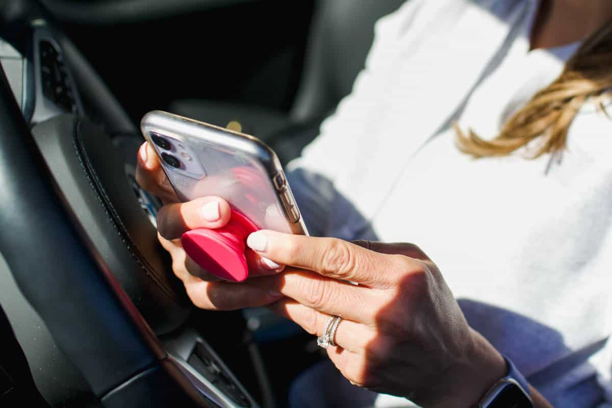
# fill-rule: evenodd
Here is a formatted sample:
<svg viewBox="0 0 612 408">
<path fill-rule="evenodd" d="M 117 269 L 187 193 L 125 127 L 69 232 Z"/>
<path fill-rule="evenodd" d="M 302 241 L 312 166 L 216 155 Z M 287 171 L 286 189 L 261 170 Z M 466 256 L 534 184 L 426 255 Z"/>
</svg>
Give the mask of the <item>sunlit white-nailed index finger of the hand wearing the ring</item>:
<svg viewBox="0 0 612 408">
<path fill-rule="evenodd" d="M 393 272 L 398 270 L 394 256 L 335 238 L 283 234 L 266 229 L 250 234 L 247 245 L 278 264 L 371 287 L 392 286 Z"/>
</svg>

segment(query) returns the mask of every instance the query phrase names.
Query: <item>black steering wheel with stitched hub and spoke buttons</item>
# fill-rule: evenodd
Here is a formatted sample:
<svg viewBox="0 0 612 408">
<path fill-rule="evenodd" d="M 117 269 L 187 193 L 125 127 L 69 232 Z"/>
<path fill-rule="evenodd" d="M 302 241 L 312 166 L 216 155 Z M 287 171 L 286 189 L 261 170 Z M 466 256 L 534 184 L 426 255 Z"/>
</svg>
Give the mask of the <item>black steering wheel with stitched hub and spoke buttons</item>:
<svg viewBox="0 0 612 408">
<path fill-rule="evenodd" d="M 74 86 L 68 112 L 49 114 L 45 99 L 65 100 L 48 103 L 35 71 L 28 113 L 0 66 L 0 251 L 20 291 L 101 406 L 258 406 L 201 336 L 214 324 L 211 337 L 239 343 L 242 317 L 194 319 L 157 242 L 155 198 L 133 177 L 143 139 L 52 21 L 33 1 L 0 6 L 0 37 L 34 69 L 50 44 Z"/>
</svg>

